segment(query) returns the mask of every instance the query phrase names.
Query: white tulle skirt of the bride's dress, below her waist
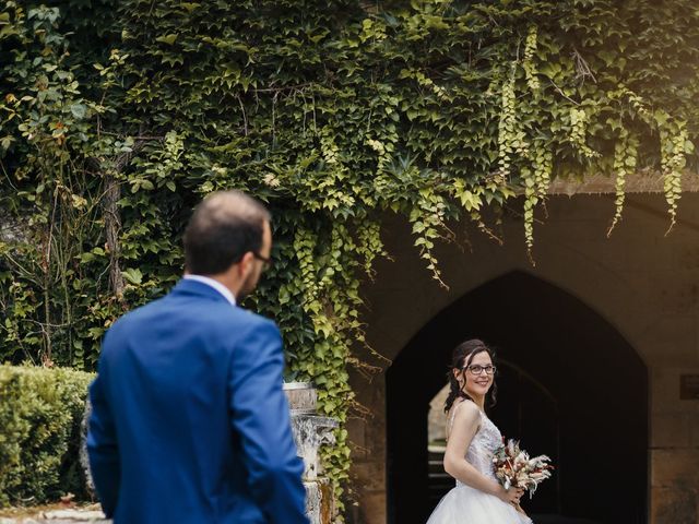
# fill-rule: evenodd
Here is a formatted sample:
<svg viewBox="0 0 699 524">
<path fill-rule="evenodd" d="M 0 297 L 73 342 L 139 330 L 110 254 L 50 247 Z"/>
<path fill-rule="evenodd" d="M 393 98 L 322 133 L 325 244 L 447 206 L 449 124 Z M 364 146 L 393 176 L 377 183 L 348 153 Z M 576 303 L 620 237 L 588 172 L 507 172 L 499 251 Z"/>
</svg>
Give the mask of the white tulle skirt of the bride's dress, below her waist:
<svg viewBox="0 0 699 524">
<path fill-rule="evenodd" d="M 439 501 L 427 524 L 532 524 L 532 520 L 494 495 L 461 485 Z"/>
</svg>

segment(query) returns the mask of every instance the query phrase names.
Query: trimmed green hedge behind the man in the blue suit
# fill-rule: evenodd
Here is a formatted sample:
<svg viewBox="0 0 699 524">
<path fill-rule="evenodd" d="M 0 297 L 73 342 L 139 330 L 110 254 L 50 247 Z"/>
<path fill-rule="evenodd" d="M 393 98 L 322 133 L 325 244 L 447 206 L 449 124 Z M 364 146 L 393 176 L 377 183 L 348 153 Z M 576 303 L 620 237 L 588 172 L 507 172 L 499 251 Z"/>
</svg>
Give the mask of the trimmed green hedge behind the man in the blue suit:
<svg viewBox="0 0 699 524">
<path fill-rule="evenodd" d="M 85 493 L 80 425 L 91 373 L 0 366 L 0 507 Z"/>
</svg>

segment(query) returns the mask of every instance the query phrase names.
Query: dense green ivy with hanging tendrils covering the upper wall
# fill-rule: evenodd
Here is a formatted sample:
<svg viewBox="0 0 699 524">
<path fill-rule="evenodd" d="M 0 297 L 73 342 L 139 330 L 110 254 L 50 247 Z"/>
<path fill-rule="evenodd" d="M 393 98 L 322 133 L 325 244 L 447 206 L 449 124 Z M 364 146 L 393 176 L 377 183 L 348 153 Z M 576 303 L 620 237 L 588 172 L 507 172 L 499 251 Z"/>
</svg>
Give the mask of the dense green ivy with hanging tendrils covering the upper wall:
<svg viewBox="0 0 699 524">
<path fill-rule="evenodd" d="M 525 249 L 555 177 L 696 168 L 692 0 L 79 0 L 0 5 L 0 358 L 93 369 L 123 311 L 181 272 L 206 193 L 269 203 L 280 324 L 321 409 L 357 407 L 360 283 L 410 222 L 427 271 L 459 217 L 521 194 Z M 98 13 L 96 15 L 95 13 Z M 20 233 L 10 236 L 12 230 Z M 346 431 L 327 452 L 342 495 Z"/>
</svg>

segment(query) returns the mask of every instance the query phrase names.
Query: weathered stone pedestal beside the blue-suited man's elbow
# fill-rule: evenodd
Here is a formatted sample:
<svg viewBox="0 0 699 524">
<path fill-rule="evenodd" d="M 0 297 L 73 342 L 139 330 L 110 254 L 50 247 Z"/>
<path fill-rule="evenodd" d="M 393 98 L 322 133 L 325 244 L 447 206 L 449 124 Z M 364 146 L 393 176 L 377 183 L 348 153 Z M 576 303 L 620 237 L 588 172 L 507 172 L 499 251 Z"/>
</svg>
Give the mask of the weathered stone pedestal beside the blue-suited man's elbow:
<svg viewBox="0 0 699 524">
<path fill-rule="evenodd" d="M 334 503 L 330 481 L 323 476 L 319 457 L 320 446 L 334 443 L 332 430 L 337 422 L 316 414 L 316 390 L 306 382 L 287 382 L 284 392 L 292 412 L 292 430 L 304 460 L 306 511 L 312 524 L 332 522 Z"/>
</svg>

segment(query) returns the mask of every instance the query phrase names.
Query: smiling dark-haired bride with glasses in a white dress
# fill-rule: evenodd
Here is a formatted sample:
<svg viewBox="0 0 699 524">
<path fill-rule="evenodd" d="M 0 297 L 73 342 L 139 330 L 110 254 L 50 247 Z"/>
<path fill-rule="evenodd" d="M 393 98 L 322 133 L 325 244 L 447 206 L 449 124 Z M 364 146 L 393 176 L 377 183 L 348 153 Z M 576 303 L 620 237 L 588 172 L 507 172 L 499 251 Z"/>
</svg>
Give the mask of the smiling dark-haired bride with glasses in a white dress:
<svg viewBox="0 0 699 524">
<path fill-rule="evenodd" d="M 493 353 L 478 340 L 459 345 L 449 370 L 451 391 L 445 469 L 457 487 L 439 502 L 427 524 L 532 524 L 520 507 L 523 490 L 505 489 L 493 472 L 493 453 L 502 444 L 498 428 L 485 415 L 494 398 Z"/>
</svg>

